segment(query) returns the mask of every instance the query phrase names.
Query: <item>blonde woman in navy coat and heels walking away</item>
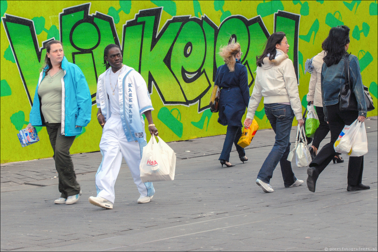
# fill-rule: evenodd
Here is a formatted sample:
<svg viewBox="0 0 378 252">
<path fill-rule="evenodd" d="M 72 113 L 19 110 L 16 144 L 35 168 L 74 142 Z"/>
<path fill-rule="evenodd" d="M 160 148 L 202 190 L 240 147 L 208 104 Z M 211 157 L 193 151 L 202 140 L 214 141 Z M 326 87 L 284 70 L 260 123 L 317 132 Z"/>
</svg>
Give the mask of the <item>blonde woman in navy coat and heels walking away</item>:
<svg viewBox="0 0 378 252">
<path fill-rule="evenodd" d="M 220 164 L 232 167 L 229 162 L 232 143 L 235 144 L 239 159 L 243 163 L 248 160 L 244 148 L 237 142 L 242 135 L 242 117 L 249 102 L 247 68 L 240 62 L 242 51 L 239 43 L 231 43 L 220 49 L 225 64 L 218 67 L 214 85 L 220 90 L 218 122 L 227 125 L 227 133 L 222 153 L 218 160 Z"/>
</svg>

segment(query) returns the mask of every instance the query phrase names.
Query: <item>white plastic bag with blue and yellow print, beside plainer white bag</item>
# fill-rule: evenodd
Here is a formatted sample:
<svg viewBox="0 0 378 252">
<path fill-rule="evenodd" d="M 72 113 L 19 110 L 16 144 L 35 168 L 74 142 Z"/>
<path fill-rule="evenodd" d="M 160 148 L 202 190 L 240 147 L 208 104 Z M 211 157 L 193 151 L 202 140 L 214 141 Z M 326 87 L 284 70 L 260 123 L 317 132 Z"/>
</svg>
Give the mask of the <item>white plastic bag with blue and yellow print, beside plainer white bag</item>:
<svg viewBox="0 0 378 252">
<path fill-rule="evenodd" d="M 335 152 L 344 153 L 350 155 L 352 152 L 352 145 L 355 140 L 356 133 L 360 126 L 360 122 L 358 119 L 354 121 L 351 125 L 345 125 L 344 129 L 340 132 L 338 139 L 336 140 L 335 144 L 333 144 L 333 148 Z M 365 126 L 364 126 L 365 128 Z M 366 131 L 365 131 L 366 135 Z"/>
</svg>

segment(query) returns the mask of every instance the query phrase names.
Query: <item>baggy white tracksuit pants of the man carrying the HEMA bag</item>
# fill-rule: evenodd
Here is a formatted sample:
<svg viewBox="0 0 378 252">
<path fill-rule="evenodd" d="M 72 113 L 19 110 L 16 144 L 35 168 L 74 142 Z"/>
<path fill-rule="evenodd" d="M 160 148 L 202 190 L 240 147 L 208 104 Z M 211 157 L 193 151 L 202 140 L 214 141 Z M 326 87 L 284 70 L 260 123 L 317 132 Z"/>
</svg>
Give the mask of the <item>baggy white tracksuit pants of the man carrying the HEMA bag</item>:
<svg viewBox="0 0 378 252">
<path fill-rule="evenodd" d="M 152 196 L 155 193 L 152 182 L 143 183 L 140 178 L 141 147 L 139 142 L 127 142 L 121 118 L 112 116 L 105 123 L 100 141 L 102 162 L 96 173 L 97 196 L 114 204 L 114 185 L 121 168 L 122 156 L 129 166 L 134 183 L 141 195 Z"/>
</svg>

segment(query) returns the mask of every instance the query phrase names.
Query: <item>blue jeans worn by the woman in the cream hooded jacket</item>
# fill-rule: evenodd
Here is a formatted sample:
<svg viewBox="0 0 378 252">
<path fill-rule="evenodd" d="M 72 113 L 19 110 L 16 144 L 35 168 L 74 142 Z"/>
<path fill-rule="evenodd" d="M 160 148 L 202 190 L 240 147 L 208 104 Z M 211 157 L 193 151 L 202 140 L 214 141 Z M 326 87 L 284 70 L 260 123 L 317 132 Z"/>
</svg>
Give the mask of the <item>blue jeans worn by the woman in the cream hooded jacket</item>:
<svg viewBox="0 0 378 252">
<path fill-rule="evenodd" d="M 280 162 L 283 184 L 285 187 L 289 187 L 297 180 L 291 169 L 291 162 L 287 161 L 290 152 L 290 130 L 294 112 L 290 105 L 280 103 L 264 104 L 264 108 L 266 117 L 268 117 L 274 133 L 276 133 L 276 142 L 268 157 L 266 157 L 257 178 L 270 183 L 273 171 Z"/>
</svg>

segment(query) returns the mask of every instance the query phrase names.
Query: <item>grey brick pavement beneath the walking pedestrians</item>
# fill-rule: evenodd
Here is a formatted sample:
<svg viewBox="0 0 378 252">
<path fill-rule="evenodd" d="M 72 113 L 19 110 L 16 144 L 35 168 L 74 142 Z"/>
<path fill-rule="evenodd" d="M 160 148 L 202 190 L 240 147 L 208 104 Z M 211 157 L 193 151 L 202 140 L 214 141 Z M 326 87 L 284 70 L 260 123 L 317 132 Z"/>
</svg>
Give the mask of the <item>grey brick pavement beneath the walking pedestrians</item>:
<svg viewBox="0 0 378 252">
<path fill-rule="evenodd" d="M 344 162 L 327 167 L 315 193 L 305 184 L 283 187 L 279 168 L 271 179 L 274 193 L 263 193 L 254 181 L 274 143 L 272 130 L 257 132 L 245 164 L 233 149 L 231 168 L 217 160 L 224 136 L 169 143 L 178 158 L 175 180 L 154 182 L 147 204 L 136 203 L 138 191 L 123 163 L 113 210 L 88 203 L 96 195 L 99 152 L 73 155 L 83 195 L 67 206 L 53 203 L 59 196 L 53 159 L 2 164 L 0 250 L 376 251 L 377 117 L 369 119 L 363 183 L 371 189 L 361 192 L 346 191 Z M 291 140 L 295 133 L 294 127 Z M 293 164 L 305 180 L 306 169 Z"/>
</svg>

